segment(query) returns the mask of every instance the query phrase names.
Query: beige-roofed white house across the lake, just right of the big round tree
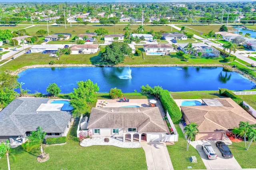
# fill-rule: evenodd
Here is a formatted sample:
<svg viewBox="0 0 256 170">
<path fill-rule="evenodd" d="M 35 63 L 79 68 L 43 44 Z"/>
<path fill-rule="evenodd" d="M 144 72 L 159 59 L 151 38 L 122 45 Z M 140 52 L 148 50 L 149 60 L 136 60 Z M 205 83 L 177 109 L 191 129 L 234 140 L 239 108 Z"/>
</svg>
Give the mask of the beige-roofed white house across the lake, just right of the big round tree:
<svg viewBox="0 0 256 170">
<path fill-rule="evenodd" d="M 169 43 L 160 43 L 160 44 L 143 44 L 143 49 L 145 52 L 173 52 L 174 47 Z"/>
</svg>

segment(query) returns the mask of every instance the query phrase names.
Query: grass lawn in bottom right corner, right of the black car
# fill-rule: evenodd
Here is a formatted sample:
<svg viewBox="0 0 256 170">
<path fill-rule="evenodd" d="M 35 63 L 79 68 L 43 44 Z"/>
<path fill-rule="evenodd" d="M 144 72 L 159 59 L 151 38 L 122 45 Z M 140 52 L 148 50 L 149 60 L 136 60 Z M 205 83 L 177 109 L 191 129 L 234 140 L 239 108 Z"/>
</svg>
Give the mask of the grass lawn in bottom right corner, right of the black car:
<svg viewBox="0 0 256 170">
<path fill-rule="evenodd" d="M 248 145 L 248 142 L 246 142 Z M 244 150 L 244 141 L 229 146 L 232 154 L 242 168 L 256 168 L 256 142 L 252 142 L 249 150 Z"/>
</svg>

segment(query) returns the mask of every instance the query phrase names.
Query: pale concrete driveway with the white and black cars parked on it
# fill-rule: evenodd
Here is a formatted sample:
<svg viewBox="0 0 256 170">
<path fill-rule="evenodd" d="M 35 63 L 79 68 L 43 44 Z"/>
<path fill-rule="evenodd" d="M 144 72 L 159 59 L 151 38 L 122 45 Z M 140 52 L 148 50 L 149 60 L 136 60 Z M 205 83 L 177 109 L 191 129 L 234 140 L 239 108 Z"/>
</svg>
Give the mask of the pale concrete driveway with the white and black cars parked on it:
<svg viewBox="0 0 256 170">
<path fill-rule="evenodd" d="M 210 143 L 213 146 L 216 154 L 218 155 L 217 159 L 209 160 L 206 157 L 204 150 L 202 150 L 202 143 L 204 142 Z M 198 150 L 206 169 L 242 169 L 234 157 L 224 159 L 220 153 L 220 150 L 216 147 L 215 142 L 216 141 L 211 140 L 197 140 L 192 142 L 192 145 L 196 148 L 196 150 Z"/>
</svg>

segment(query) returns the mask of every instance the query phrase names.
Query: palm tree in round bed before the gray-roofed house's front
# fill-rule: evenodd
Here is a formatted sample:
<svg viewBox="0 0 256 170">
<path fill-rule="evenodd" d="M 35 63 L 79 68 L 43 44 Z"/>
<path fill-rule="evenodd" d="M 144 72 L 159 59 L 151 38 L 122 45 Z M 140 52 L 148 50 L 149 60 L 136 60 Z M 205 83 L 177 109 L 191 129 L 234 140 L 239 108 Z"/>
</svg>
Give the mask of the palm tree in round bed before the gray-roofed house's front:
<svg viewBox="0 0 256 170">
<path fill-rule="evenodd" d="M 36 128 L 36 131 L 31 132 L 31 135 L 27 137 L 28 142 L 26 142 L 26 145 L 28 146 L 40 145 L 41 158 L 45 156 L 45 152 L 43 150 L 43 141 L 44 141 L 45 135 L 46 135 L 46 132 L 42 131 L 42 127 L 38 127 Z"/>
</svg>

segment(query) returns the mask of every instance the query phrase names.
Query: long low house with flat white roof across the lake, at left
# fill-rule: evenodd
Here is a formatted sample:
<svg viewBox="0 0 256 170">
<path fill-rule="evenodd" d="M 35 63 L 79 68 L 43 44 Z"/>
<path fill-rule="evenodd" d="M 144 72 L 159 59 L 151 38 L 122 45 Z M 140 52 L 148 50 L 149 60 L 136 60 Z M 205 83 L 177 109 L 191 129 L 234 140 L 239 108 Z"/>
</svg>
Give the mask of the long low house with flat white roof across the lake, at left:
<svg viewBox="0 0 256 170">
<path fill-rule="evenodd" d="M 33 45 L 30 48 L 31 53 L 56 53 L 59 48 L 63 48 L 64 45 L 62 44 L 40 44 L 40 45 Z"/>
</svg>

